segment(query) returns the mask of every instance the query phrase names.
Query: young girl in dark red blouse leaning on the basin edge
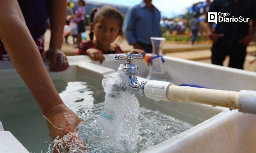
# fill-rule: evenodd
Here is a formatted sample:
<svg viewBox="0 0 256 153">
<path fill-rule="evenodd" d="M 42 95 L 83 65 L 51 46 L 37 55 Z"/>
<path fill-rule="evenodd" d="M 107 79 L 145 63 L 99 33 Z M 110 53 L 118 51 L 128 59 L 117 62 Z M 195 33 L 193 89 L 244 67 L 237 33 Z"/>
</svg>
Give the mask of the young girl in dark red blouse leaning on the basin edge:
<svg viewBox="0 0 256 153">
<path fill-rule="evenodd" d="M 94 8 L 90 15 L 90 41 L 80 44 L 77 55 L 88 55 L 92 60 L 102 63 L 105 59 L 103 54 L 123 53 L 121 48 L 113 43 L 118 36 L 123 36 L 122 26 L 123 15 L 119 10 L 110 6 Z M 94 34 L 96 40 L 93 40 Z M 131 52 L 142 53 L 143 57 L 146 54 L 139 49 Z"/>
</svg>

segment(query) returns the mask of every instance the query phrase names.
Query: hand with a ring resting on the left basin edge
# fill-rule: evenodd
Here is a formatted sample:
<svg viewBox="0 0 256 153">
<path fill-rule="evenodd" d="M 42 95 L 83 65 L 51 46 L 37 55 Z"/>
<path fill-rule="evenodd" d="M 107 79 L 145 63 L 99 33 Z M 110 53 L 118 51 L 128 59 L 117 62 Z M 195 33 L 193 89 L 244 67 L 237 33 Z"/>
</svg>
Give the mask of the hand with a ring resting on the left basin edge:
<svg viewBox="0 0 256 153">
<path fill-rule="evenodd" d="M 65 71 L 69 67 L 66 55 L 59 49 L 49 49 L 43 59 L 51 59 L 50 72 Z"/>
</svg>

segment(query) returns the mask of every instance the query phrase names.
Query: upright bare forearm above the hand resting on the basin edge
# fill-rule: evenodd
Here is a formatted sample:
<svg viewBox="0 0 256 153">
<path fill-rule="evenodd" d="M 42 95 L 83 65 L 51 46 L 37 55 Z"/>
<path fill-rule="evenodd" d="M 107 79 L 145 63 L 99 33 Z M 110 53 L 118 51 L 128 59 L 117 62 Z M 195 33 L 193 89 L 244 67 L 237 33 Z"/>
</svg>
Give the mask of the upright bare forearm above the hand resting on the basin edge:
<svg viewBox="0 0 256 153">
<path fill-rule="evenodd" d="M 51 49 L 61 49 L 63 28 L 66 21 L 66 0 L 49 1 L 49 17 L 51 24 Z"/>
</svg>

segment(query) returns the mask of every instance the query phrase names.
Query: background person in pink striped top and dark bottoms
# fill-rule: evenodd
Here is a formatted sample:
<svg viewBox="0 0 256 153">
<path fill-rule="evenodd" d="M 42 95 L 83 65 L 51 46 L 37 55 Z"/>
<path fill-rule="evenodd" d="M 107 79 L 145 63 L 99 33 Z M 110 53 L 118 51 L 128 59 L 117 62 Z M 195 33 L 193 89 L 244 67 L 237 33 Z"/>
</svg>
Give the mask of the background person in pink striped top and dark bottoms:
<svg viewBox="0 0 256 153">
<path fill-rule="evenodd" d="M 76 48 L 79 48 L 79 44 L 82 42 L 81 33 L 85 32 L 85 22 L 84 22 L 85 21 L 85 1 L 79 0 L 78 5 L 79 7 L 75 11 L 75 16 L 74 16 L 74 20 L 75 22 L 77 22 L 77 26 L 78 26 L 78 37 L 77 37 L 78 45 L 76 46 Z"/>
</svg>

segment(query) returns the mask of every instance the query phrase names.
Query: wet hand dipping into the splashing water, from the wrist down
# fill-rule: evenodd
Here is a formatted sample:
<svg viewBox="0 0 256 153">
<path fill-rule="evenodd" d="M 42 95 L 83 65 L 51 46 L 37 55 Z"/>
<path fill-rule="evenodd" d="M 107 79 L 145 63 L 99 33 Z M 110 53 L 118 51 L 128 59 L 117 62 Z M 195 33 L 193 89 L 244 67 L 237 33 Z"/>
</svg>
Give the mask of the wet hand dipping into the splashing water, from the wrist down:
<svg viewBox="0 0 256 153">
<path fill-rule="evenodd" d="M 77 125 L 83 120 L 80 119 L 66 105 L 58 104 L 53 106 L 46 114 L 47 126 L 50 136 L 54 141 L 54 152 L 62 149 L 88 150 L 77 135 Z"/>
</svg>

